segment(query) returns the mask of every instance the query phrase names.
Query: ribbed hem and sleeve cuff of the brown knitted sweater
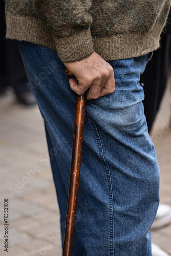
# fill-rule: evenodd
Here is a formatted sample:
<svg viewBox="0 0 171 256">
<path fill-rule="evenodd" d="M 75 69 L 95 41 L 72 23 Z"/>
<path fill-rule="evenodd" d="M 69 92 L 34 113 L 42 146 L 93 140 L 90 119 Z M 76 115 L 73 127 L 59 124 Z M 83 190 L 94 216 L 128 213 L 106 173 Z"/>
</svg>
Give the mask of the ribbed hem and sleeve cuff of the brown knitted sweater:
<svg viewBox="0 0 171 256">
<path fill-rule="evenodd" d="M 48 47 L 58 52 L 62 62 L 82 60 L 93 51 L 106 61 L 138 57 L 152 52 L 160 46 L 159 39 L 162 31 L 162 27 L 158 27 L 146 33 L 93 38 L 89 29 L 70 38 L 58 39 L 53 37 L 41 20 L 33 17 L 12 16 L 10 14 L 6 16 L 6 22 L 6 38 Z"/>
</svg>

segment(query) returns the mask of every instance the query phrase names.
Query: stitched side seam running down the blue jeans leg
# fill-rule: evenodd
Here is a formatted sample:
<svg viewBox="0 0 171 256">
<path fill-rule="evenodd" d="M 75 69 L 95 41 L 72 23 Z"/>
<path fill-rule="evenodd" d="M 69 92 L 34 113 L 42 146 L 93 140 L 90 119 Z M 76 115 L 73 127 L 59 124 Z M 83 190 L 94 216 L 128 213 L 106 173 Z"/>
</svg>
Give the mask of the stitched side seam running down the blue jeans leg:
<svg viewBox="0 0 171 256">
<path fill-rule="evenodd" d="M 113 191 L 112 191 L 112 181 L 111 181 L 111 174 L 110 174 L 110 168 L 108 163 L 106 162 L 104 158 L 104 153 L 103 153 L 103 147 L 100 139 L 100 135 L 97 129 L 97 126 L 93 120 L 93 118 L 86 112 L 87 116 L 89 117 L 90 121 L 92 122 L 92 127 L 95 131 L 96 138 L 97 138 L 97 143 L 98 143 L 98 148 L 99 148 L 99 155 L 101 160 L 105 163 L 106 165 L 106 174 L 107 174 L 107 181 L 108 181 L 108 190 L 109 190 L 109 195 L 110 195 L 110 228 L 109 228 L 109 252 L 111 256 L 114 256 L 114 200 L 113 200 Z M 112 226 L 112 227 L 111 227 Z"/>
</svg>

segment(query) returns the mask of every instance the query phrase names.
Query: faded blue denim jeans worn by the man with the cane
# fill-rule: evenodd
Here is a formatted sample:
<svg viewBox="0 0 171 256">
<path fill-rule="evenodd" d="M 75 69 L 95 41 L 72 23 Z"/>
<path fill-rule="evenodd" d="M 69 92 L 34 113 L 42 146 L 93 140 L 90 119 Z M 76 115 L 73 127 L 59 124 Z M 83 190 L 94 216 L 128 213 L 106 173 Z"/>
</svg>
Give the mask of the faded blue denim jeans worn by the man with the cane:
<svg viewBox="0 0 171 256">
<path fill-rule="evenodd" d="M 63 240 L 76 94 L 55 51 L 19 47 L 45 121 Z M 148 58 L 109 61 L 115 92 L 87 101 L 73 256 L 151 255 L 160 175 L 139 83 Z"/>
</svg>

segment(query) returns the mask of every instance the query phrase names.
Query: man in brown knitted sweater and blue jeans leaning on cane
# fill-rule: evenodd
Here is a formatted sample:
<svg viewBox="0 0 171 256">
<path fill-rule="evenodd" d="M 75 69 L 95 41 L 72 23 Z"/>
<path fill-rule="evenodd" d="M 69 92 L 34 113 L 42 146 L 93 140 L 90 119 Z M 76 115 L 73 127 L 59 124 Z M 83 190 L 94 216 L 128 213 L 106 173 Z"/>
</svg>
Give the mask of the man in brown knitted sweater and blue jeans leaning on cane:
<svg viewBox="0 0 171 256">
<path fill-rule="evenodd" d="M 75 93 L 88 90 L 73 256 L 151 255 L 160 175 L 139 79 L 169 8 L 170 0 L 6 1 L 6 36 L 19 40 L 45 121 L 62 238 Z M 68 83 L 65 66 L 77 81 Z"/>
</svg>

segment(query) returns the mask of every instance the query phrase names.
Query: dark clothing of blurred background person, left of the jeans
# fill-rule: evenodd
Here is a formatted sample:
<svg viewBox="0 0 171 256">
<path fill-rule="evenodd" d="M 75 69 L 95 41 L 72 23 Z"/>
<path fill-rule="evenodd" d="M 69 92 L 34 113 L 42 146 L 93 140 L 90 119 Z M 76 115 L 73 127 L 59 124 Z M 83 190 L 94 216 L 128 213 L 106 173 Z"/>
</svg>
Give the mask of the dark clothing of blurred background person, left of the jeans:
<svg viewBox="0 0 171 256">
<path fill-rule="evenodd" d="M 25 73 L 22 57 L 17 41 L 5 40 L 5 2 L 0 1 L 0 90 L 6 86 L 13 87 L 15 94 L 29 91 L 28 79 Z"/>
</svg>

